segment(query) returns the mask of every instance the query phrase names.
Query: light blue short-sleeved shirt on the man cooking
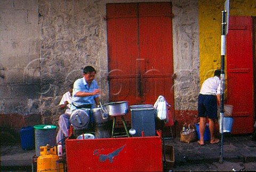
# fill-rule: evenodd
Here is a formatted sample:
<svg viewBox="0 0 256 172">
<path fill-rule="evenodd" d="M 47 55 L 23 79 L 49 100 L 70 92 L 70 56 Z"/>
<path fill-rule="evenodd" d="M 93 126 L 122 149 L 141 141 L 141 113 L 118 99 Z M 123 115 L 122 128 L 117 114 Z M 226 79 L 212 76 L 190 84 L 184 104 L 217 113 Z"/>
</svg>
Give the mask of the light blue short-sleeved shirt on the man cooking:
<svg viewBox="0 0 256 172">
<path fill-rule="evenodd" d="M 73 97 L 72 97 L 73 104 L 76 106 L 90 104 L 93 107 L 93 104 L 95 103 L 94 98 L 98 97 L 99 95 L 87 96 L 87 97 L 77 97 L 75 95 L 78 91 L 93 92 L 94 89 L 98 89 L 98 84 L 95 80 L 92 81 L 90 87 L 84 78 L 80 78 L 76 80 L 73 86 Z M 71 106 L 71 109 L 70 109 L 71 111 L 77 109 L 74 105 Z"/>
</svg>

